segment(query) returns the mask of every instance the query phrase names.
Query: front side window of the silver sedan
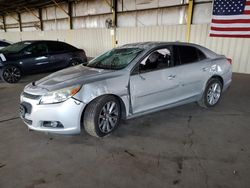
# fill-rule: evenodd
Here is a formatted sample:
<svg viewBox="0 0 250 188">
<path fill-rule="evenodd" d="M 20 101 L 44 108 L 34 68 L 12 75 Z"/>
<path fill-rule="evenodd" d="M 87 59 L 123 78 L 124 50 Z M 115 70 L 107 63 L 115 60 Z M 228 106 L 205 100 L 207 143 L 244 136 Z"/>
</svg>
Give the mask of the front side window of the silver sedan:
<svg viewBox="0 0 250 188">
<path fill-rule="evenodd" d="M 139 65 L 139 71 L 150 72 L 171 66 L 171 53 L 167 48 L 159 49 L 148 55 Z"/>
</svg>

